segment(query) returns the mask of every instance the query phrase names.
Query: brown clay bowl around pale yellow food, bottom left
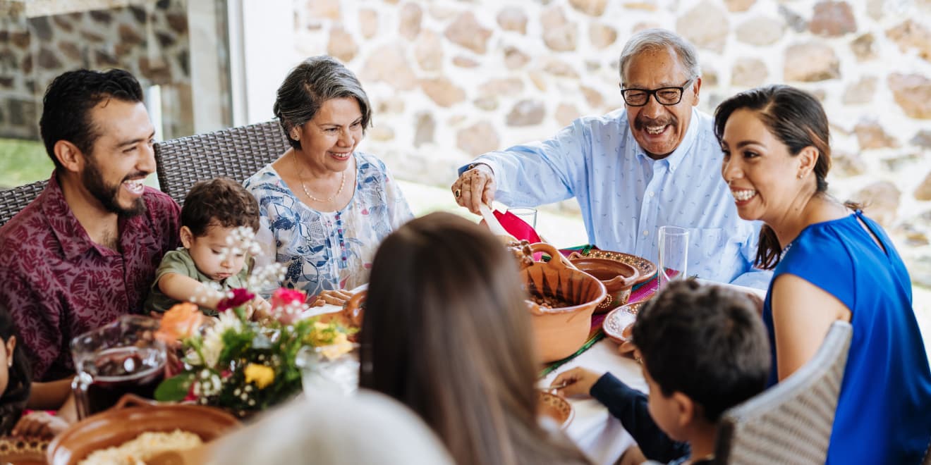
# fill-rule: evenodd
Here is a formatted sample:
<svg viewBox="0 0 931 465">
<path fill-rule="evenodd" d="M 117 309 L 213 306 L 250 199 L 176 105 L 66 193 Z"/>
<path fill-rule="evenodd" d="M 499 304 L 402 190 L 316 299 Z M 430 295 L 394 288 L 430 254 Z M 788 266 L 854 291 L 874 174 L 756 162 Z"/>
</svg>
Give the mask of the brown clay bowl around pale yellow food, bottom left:
<svg viewBox="0 0 931 465">
<path fill-rule="evenodd" d="M 90 453 L 122 445 L 143 432 L 193 432 L 206 443 L 236 428 L 232 415 L 202 405 L 157 404 L 133 394 L 116 405 L 82 419 L 61 432 L 48 445 L 50 465 L 75 465 Z"/>
</svg>

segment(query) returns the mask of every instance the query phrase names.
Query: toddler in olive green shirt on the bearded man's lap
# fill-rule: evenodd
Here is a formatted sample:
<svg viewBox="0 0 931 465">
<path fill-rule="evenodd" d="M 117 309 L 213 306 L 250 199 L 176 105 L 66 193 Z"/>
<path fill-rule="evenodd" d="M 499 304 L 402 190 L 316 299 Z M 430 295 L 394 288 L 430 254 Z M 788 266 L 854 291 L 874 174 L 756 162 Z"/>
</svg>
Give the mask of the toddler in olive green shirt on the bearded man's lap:
<svg viewBox="0 0 931 465">
<path fill-rule="evenodd" d="M 248 287 L 250 250 L 244 236 L 259 229 L 259 204 L 232 179 L 197 182 L 181 210 L 182 246 L 165 254 L 146 309 L 166 312 L 179 302 L 195 302 L 216 315 L 223 292 Z M 243 231 L 246 230 L 246 231 Z M 264 300 L 257 298 L 260 306 Z"/>
</svg>

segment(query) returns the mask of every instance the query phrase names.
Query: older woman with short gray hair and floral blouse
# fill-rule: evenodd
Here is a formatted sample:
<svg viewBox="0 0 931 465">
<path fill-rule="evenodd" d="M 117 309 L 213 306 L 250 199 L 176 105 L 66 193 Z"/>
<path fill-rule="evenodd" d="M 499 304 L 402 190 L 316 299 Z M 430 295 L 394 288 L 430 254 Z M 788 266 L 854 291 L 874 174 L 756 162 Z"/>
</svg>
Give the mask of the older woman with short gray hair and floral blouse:
<svg viewBox="0 0 931 465">
<path fill-rule="evenodd" d="M 259 201 L 259 264 L 282 263 L 282 286 L 342 303 L 344 289 L 368 282 L 375 249 L 411 208 L 385 163 L 356 150 L 371 105 L 339 61 L 312 57 L 291 70 L 275 115 L 291 147 L 245 182 Z"/>
</svg>

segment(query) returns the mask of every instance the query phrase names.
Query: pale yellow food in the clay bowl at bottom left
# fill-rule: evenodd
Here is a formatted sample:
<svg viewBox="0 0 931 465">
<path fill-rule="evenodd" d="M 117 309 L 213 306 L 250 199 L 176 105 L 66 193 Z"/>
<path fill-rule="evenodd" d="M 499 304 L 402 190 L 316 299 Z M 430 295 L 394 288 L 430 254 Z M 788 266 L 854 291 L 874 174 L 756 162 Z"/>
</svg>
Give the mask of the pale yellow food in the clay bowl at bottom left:
<svg viewBox="0 0 931 465">
<path fill-rule="evenodd" d="M 78 465 L 144 465 L 146 460 L 163 452 L 179 452 L 203 444 L 193 432 L 143 432 L 122 445 L 93 452 Z"/>
</svg>

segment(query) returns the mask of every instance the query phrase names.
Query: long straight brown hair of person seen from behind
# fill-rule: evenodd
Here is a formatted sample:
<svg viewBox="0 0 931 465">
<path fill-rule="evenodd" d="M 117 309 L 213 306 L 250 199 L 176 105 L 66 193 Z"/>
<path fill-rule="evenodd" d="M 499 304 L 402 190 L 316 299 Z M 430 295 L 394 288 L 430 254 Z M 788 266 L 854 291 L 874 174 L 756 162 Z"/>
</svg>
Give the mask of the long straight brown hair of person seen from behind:
<svg viewBox="0 0 931 465">
<path fill-rule="evenodd" d="M 539 362 L 517 264 L 479 225 L 413 219 L 375 254 L 359 385 L 408 405 L 457 463 L 585 463 L 537 424 Z"/>
</svg>

